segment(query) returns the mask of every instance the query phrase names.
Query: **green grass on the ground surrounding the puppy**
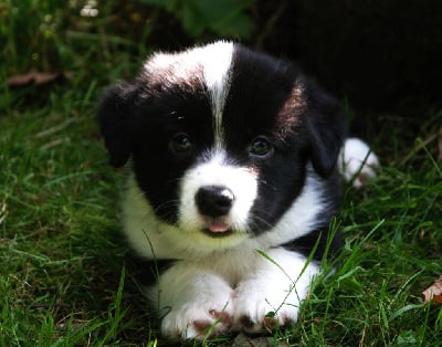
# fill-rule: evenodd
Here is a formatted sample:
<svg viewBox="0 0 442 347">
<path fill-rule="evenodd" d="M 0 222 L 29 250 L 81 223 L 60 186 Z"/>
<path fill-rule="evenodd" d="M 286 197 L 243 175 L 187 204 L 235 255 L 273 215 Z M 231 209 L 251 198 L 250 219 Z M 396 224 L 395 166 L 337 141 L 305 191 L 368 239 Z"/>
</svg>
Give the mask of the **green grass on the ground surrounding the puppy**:
<svg viewBox="0 0 442 347">
<path fill-rule="evenodd" d="M 102 88 L 130 76 L 146 50 L 112 31 L 112 9 L 92 23 L 56 8 L 75 22 L 64 28 L 30 0 L 18 10 L 28 21 L 18 22 L 11 3 L 0 2 L 0 346 L 166 345 L 118 233 L 122 175 L 108 166 L 95 123 Z M 52 36 L 35 31 L 41 21 L 59 25 Z M 40 45 L 23 45 L 17 25 Z M 51 66 L 74 75 L 6 85 Z M 442 307 L 420 297 L 442 273 L 442 112 L 375 116 L 379 177 L 365 191 L 346 189 L 335 225 L 347 238 L 339 266 L 318 278 L 298 324 L 275 332 L 274 345 L 442 344 Z"/>
</svg>

